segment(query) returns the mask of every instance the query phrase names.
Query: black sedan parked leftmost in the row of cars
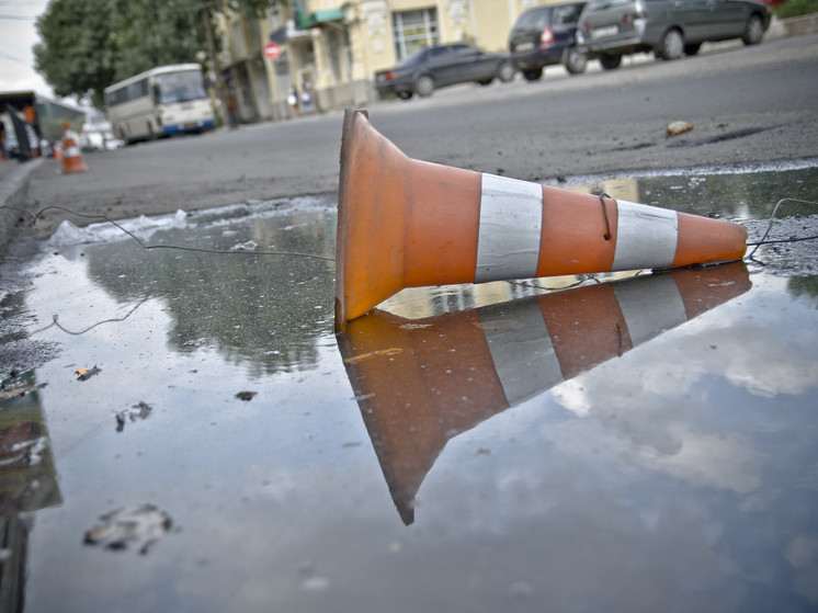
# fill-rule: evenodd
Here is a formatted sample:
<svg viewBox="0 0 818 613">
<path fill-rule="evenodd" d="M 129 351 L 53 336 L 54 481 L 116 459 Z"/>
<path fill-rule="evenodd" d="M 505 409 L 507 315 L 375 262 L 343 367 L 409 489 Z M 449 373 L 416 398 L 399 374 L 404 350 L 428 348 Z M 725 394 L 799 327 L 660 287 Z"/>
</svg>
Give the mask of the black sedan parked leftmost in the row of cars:
<svg viewBox="0 0 818 613">
<path fill-rule="evenodd" d="M 504 55 L 488 54 L 470 45 L 438 45 L 414 52 L 390 70 L 375 73 L 375 88 L 380 95 L 396 93 L 408 100 L 445 86 L 475 81 L 487 86 L 495 78 L 510 81 L 514 64 Z"/>
</svg>

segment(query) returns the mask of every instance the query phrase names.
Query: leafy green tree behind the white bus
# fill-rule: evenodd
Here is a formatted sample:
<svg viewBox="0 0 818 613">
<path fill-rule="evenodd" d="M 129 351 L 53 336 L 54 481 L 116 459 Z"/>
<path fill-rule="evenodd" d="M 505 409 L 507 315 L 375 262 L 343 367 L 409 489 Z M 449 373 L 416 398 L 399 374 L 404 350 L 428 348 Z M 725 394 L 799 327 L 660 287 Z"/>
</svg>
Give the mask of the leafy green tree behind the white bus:
<svg viewBox="0 0 818 613">
<path fill-rule="evenodd" d="M 282 0 L 229 0 L 260 14 Z M 37 19 L 34 65 L 57 95 L 91 94 L 102 106 L 110 84 L 162 64 L 197 61 L 205 52 L 203 11 L 212 0 L 52 0 Z"/>
</svg>

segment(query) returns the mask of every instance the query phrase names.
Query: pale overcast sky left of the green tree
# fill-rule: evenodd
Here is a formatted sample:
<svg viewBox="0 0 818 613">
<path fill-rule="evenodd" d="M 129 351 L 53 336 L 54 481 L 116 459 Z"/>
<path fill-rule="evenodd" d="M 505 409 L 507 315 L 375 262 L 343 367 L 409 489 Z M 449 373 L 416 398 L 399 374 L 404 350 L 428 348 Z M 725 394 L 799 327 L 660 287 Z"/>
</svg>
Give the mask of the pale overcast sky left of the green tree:
<svg viewBox="0 0 818 613">
<path fill-rule="evenodd" d="M 30 91 L 53 97 L 43 77 L 34 71 L 34 26 L 48 0 L 0 0 L 0 92 Z"/>
</svg>

